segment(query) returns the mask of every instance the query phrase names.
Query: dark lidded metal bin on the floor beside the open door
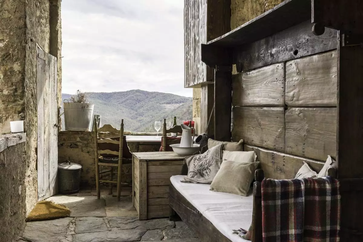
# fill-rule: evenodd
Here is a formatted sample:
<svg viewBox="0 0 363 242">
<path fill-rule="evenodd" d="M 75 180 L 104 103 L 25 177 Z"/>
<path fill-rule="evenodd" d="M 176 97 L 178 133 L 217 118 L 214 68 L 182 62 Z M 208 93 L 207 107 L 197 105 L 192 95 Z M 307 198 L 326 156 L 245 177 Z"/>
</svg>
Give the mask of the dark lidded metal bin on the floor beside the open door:
<svg viewBox="0 0 363 242">
<path fill-rule="evenodd" d="M 72 194 L 79 191 L 82 166 L 77 163 L 67 162 L 58 164 L 58 193 Z"/>
</svg>

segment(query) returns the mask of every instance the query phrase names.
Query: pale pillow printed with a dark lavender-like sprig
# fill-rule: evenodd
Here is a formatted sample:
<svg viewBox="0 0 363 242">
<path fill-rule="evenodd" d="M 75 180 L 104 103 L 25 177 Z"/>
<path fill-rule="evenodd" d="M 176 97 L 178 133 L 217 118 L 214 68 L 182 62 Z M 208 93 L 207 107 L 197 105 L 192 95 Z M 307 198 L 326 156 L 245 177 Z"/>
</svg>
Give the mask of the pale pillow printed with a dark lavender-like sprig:
<svg viewBox="0 0 363 242">
<path fill-rule="evenodd" d="M 214 146 L 203 154 L 186 157 L 188 175 L 184 182 L 211 183 L 220 168 L 221 159 L 222 145 Z"/>
</svg>

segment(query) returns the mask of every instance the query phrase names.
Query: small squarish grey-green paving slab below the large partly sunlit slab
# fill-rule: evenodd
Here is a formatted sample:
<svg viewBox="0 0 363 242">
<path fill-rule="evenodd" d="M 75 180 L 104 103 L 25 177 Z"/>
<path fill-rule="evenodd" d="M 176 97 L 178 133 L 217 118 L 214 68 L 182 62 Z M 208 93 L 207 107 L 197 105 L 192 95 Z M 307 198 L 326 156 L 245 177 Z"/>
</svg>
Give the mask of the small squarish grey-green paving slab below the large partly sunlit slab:
<svg viewBox="0 0 363 242">
<path fill-rule="evenodd" d="M 107 231 L 107 226 L 103 218 L 83 217 L 76 218 L 76 234 L 95 233 Z"/>
</svg>

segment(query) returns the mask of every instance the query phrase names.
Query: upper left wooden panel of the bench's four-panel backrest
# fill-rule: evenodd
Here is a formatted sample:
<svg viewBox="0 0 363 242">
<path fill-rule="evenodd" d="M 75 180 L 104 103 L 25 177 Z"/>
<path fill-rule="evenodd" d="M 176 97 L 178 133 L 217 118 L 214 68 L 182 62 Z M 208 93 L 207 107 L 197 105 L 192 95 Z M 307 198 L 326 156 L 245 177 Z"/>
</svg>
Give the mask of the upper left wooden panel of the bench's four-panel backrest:
<svg viewBox="0 0 363 242">
<path fill-rule="evenodd" d="M 285 106 L 285 63 L 233 75 L 233 106 Z"/>
</svg>

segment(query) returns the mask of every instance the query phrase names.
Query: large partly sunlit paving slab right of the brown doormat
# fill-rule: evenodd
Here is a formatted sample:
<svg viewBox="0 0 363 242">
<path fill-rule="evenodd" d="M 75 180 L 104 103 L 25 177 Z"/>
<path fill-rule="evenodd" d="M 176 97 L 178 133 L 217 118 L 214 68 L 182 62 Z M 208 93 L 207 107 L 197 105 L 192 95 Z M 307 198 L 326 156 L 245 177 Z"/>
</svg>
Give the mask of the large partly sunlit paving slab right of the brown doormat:
<svg viewBox="0 0 363 242">
<path fill-rule="evenodd" d="M 66 196 L 56 195 L 48 199 L 60 203 L 71 210 L 70 217 L 105 217 L 105 200 L 97 196 Z"/>
</svg>

